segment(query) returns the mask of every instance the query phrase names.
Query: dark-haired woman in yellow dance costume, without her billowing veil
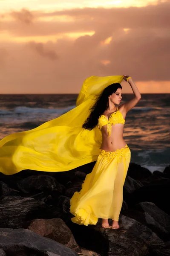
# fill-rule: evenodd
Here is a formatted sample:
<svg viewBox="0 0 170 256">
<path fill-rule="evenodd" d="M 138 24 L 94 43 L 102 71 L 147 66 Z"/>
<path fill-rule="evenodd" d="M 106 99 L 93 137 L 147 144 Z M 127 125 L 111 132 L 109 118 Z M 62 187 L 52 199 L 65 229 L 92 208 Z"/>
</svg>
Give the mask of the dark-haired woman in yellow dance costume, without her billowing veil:
<svg viewBox="0 0 170 256">
<path fill-rule="evenodd" d="M 100 154 L 91 173 L 86 175 L 82 189 L 70 200 L 72 221 L 77 224 L 96 224 L 102 218 L 102 227 L 119 228 L 118 218 L 123 202 L 123 185 L 130 163 L 130 149 L 123 139 L 125 117 L 141 99 L 141 94 L 130 76 L 124 76 L 135 97 L 118 107 L 122 99 L 121 84 L 106 87 L 91 108 L 83 128 L 101 130 Z"/>
</svg>

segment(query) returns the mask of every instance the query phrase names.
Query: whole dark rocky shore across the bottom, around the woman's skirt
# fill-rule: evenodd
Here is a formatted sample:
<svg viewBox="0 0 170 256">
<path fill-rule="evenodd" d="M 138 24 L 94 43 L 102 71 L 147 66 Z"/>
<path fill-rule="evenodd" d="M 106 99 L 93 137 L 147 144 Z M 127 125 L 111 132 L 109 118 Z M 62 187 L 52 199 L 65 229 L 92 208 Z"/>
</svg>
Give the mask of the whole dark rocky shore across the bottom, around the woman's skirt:
<svg viewBox="0 0 170 256">
<path fill-rule="evenodd" d="M 0 173 L 0 256 L 170 256 L 170 166 L 151 173 L 130 163 L 113 230 L 70 220 L 70 198 L 94 165 Z"/>
</svg>

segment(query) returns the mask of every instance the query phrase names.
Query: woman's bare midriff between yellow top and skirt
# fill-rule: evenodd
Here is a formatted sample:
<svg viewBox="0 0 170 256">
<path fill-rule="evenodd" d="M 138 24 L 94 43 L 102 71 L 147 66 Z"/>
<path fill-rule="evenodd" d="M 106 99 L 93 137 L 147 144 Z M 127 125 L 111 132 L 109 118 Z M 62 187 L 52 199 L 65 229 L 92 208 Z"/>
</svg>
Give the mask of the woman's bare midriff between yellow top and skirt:
<svg viewBox="0 0 170 256">
<path fill-rule="evenodd" d="M 123 139 L 123 129 L 124 124 L 112 125 L 111 135 L 108 137 L 107 127 L 104 125 L 101 128 L 102 143 L 100 148 L 105 151 L 115 151 L 116 149 L 124 148 L 127 143 Z"/>
</svg>

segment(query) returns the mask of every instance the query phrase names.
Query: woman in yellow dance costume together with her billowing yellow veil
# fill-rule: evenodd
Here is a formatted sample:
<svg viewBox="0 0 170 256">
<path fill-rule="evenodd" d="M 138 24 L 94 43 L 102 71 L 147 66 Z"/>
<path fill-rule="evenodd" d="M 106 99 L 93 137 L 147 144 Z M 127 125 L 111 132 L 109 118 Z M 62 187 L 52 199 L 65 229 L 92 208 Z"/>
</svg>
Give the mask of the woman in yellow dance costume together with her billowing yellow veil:
<svg viewBox="0 0 170 256">
<path fill-rule="evenodd" d="M 117 108 L 123 79 L 135 97 Z M 70 200 L 70 212 L 75 215 L 72 221 L 88 225 L 102 218 L 102 227 L 109 227 L 108 218 L 112 218 L 112 228 L 118 228 L 122 188 L 130 162 L 123 127 L 126 113 L 140 98 L 129 76 L 87 78 L 71 111 L 0 140 L 0 172 L 65 172 L 97 160 L 81 191 Z"/>
</svg>

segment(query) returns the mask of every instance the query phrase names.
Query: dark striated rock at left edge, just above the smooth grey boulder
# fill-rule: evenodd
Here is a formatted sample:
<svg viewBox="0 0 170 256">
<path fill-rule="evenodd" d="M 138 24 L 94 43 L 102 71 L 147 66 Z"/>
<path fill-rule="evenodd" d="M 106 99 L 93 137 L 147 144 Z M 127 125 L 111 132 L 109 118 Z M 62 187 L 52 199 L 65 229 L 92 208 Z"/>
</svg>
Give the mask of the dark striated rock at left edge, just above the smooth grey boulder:
<svg viewBox="0 0 170 256">
<path fill-rule="evenodd" d="M 32 219 L 55 217 L 61 217 L 58 207 L 34 198 L 6 196 L 0 201 L 0 227 L 19 228 Z"/>
</svg>

